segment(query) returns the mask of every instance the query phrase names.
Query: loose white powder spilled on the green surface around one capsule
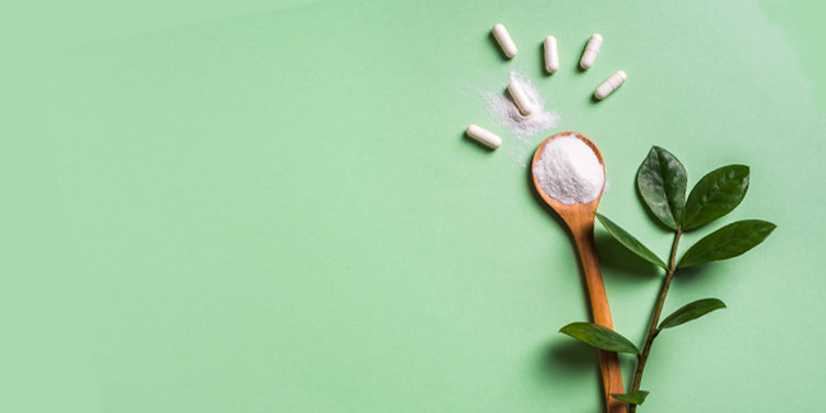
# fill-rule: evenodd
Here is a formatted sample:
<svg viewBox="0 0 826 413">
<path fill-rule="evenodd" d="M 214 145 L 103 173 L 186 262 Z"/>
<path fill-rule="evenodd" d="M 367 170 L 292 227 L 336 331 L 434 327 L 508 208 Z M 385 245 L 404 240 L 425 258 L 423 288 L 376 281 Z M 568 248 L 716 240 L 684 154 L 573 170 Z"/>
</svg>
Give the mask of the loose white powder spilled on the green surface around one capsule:
<svg viewBox="0 0 826 413">
<path fill-rule="evenodd" d="M 522 86 L 522 90 L 532 102 L 533 111 L 530 116 L 520 113 L 507 91 L 508 84 L 513 80 Z M 488 106 L 488 113 L 496 119 L 500 128 L 512 134 L 503 137 L 503 146 L 508 148 L 514 161 L 526 167 L 530 154 L 536 145 L 531 138 L 556 128 L 561 118 L 556 111 L 545 109 L 545 98 L 525 75 L 512 70 L 508 76 L 508 84 L 501 85 L 494 91 L 480 90 L 479 94 Z"/>
</svg>

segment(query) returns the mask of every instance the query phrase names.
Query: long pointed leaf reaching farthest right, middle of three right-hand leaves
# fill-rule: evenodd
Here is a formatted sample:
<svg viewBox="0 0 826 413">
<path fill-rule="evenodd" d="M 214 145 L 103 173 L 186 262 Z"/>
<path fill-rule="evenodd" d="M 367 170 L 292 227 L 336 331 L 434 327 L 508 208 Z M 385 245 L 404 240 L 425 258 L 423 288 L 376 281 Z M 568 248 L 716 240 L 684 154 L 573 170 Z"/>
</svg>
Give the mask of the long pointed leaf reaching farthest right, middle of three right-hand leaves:
<svg viewBox="0 0 826 413">
<path fill-rule="evenodd" d="M 740 256 L 769 237 L 776 226 L 760 219 L 729 224 L 697 241 L 680 259 L 678 268 Z"/>
</svg>

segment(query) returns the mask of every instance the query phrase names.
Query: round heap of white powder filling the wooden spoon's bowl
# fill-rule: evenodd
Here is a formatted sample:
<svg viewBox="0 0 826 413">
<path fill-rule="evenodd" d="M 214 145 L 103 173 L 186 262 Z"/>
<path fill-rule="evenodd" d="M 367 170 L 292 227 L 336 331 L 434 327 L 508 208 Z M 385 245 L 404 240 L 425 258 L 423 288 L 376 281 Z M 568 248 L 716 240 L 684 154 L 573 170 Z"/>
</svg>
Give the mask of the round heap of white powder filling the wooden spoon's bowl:
<svg viewBox="0 0 826 413">
<path fill-rule="evenodd" d="M 533 175 L 545 194 L 566 205 L 590 203 L 599 196 L 605 183 L 599 159 L 575 134 L 547 142 Z"/>
</svg>

